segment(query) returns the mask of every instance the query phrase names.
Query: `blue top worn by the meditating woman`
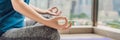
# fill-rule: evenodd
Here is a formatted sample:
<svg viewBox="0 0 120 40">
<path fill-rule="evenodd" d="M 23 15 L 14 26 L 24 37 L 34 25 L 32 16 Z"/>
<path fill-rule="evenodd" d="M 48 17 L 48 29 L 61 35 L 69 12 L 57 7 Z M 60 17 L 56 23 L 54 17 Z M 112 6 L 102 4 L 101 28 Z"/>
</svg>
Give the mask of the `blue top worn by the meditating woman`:
<svg viewBox="0 0 120 40">
<path fill-rule="evenodd" d="M 29 4 L 29 0 L 25 0 Z M 0 0 L 0 36 L 9 29 L 24 26 L 24 16 L 13 9 L 11 0 Z"/>
</svg>

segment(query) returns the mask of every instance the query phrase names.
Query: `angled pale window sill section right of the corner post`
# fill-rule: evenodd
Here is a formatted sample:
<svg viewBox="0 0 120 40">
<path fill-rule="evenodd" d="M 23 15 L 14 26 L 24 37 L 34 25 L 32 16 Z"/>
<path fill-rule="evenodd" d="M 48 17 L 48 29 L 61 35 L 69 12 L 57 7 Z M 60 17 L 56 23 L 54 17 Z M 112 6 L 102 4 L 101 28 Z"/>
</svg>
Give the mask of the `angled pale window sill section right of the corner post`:
<svg viewBox="0 0 120 40">
<path fill-rule="evenodd" d="M 111 28 L 108 26 L 94 27 L 94 33 L 102 36 L 110 37 L 116 40 L 120 40 L 120 29 Z"/>
</svg>

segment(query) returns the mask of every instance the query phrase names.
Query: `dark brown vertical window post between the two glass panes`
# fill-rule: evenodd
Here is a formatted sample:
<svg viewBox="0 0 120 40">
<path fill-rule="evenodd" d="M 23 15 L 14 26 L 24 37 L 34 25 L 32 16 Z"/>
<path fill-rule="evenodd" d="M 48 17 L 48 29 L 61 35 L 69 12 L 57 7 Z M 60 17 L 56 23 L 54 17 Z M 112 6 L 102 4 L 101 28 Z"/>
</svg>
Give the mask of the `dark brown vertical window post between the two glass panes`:
<svg viewBox="0 0 120 40">
<path fill-rule="evenodd" d="M 98 7 L 99 7 L 99 0 L 93 0 L 92 2 L 92 26 L 96 27 L 98 22 Z"/>
</svg>

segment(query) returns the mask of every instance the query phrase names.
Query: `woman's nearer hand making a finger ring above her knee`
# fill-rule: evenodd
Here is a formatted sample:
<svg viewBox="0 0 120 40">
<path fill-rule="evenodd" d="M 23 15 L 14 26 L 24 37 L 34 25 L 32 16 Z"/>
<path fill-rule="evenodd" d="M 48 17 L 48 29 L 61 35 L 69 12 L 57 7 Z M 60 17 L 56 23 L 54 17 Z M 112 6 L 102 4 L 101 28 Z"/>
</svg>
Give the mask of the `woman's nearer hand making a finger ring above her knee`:
<svg viewBox="0 0 120 40">
<path fill-rule="evenodd" d="M 60 25 L 58 24 L 58 20 L 65 20 L 65 24 Z M 71 27 L 71 23 L 68 23 L 68 20 L 66 17 L 55 17 L 53 19 L 48 20 L 47 25 L 54 28 L 54 29 L 58 29 L 58 30 L 66 30 L 69 29 Z"/>
</svg>

